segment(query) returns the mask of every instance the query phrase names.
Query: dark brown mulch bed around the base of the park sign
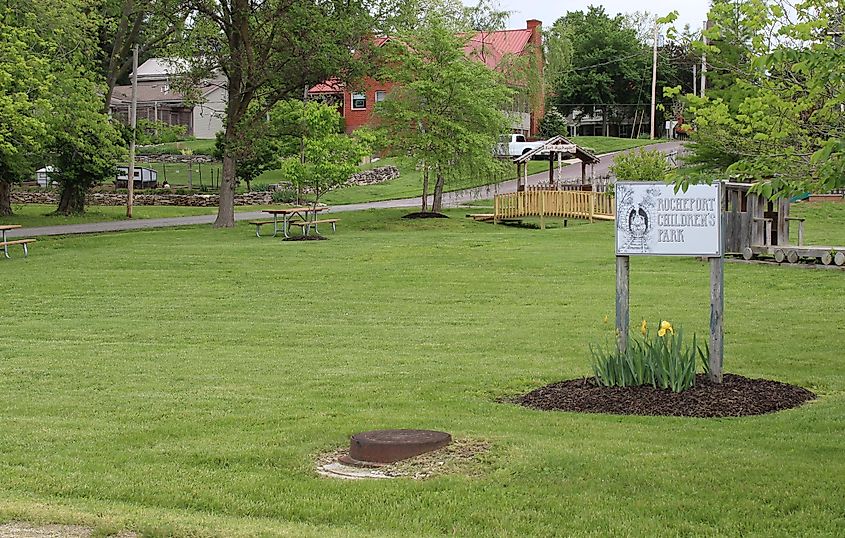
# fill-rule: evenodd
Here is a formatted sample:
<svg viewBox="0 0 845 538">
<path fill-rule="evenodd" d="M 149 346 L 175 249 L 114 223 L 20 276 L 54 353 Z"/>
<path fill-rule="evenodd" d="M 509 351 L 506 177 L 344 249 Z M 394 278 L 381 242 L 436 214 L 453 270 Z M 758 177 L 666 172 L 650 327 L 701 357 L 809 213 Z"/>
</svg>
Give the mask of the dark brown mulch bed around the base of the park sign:
<svg viewBox="0 0 845 538">
<path fill-rule="evenodd" d="M 774 413 L 815 399 L 805 388 L 778 381 L 725 374 L 720 385 L 699 374 L 695 386 L 681 393 L 651 386 L 602 387 L 586 378 L 552 383 L 504 401 L 546 411 L 714 418 Z"/>
</svg>

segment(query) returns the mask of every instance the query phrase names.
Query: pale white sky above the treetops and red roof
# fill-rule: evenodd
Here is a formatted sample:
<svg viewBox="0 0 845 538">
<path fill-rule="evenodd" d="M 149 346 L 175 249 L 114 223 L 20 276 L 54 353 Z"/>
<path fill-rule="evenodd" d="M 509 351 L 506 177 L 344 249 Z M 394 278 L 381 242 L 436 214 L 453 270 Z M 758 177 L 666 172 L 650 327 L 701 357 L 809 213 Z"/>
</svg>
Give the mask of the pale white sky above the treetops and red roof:
<svg viewBox="0 0 845 538">
<path fill-rule="evenodd" d="M 463 0 L 466 5 L 474 5 L 473 0 Z M 648 11 L 660 16 L 672 10 L 678 11 L 675 26 L 683 29 L 685 24 L 691 28 L 700 28 L 707 18 L 710 0 L 499 0 L 502 9 L 512 11 L 508 28 L 523 28 L 528 19 L 539 19 L 543 26 L 551 26 L 567 11 L 586 11 L 590 5 L 604 6 L 609 15 L 630 11 Z"/>
</svg>

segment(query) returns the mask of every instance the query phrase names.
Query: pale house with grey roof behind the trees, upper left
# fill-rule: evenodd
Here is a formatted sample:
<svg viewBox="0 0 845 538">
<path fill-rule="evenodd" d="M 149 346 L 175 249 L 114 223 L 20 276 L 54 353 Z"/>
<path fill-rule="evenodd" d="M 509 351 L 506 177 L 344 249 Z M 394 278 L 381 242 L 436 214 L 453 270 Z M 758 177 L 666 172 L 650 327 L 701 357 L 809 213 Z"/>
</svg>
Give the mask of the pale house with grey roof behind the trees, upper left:
<svg viewBox="0 0 845 538">
<path fill-rule="evenodd" d="M 200 139 L 213 139 L 223 130 L 226 116 L 226 81 L 216 77 L 197 88 L 199 102 L 189 102 L 171 81 L 179 73 L 181 62 L 167 58 L 151 58 L 138 66 L 138 119 L 183 125 L 187 134 Z M 132 86 L 115 86 L 110 111 L 129 122 Z"/>
</svg>

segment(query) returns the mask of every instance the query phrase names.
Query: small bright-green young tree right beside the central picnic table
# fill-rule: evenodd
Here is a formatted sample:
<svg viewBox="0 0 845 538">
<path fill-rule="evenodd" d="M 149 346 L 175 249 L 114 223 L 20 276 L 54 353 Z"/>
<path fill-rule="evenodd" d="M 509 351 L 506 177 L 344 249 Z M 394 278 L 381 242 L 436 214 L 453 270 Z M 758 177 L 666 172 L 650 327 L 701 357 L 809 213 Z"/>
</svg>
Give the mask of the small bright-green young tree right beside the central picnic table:
<svg viewBox="0 0 845 538">
<path fill-rule="evenodd" d="M 366 140 L 338 133 L 340 114 L 332 106 L 309 102 L 302 108 L 301 155 L 282 162 L 282 173 L 299 190 L 313 195 L 316 207 L 326 192 L 344 185 L 370 154 Z"/>
</svg>

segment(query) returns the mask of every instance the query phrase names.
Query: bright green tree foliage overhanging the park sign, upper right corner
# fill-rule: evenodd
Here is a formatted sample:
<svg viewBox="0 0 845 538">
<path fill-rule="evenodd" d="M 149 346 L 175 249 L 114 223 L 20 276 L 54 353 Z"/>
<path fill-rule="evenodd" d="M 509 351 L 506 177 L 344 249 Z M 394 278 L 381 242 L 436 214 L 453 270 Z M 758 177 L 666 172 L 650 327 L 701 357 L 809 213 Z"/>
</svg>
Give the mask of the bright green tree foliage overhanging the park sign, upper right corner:
<svg viewBox="0 0 845 538">
<path fill-rule="evenodd" d="M 709 37 L 718 43 L 726 34 L 746 36 L 731 40 L 745 61 L 731 68 L 730 85 L 705 99 L 687 96 L 696 128 L 691 162 L 699 171 L 756 180 L 769 196 L 845 186 L 842 13 L 824 0 L 791 12 L 763 0 L 714 4 Z M 723 63 L 718 46 L 707 53 Z"/>
</svg>

